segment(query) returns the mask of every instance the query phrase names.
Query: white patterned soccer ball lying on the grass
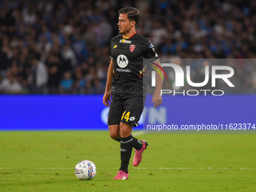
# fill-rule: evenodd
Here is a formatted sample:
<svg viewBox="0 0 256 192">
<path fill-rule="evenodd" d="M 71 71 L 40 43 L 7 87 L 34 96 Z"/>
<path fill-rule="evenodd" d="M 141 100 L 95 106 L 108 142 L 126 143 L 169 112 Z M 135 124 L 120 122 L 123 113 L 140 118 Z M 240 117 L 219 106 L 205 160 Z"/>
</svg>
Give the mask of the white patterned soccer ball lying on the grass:
<svg viewBox="0 0 256 192">
<path fill-rule="evenodd" d="M 90 160 L 81 160 L 75 166 L 75 175 L 81 181 L 92 180 L 96 175 L 96 166 Z"/>
</svg>

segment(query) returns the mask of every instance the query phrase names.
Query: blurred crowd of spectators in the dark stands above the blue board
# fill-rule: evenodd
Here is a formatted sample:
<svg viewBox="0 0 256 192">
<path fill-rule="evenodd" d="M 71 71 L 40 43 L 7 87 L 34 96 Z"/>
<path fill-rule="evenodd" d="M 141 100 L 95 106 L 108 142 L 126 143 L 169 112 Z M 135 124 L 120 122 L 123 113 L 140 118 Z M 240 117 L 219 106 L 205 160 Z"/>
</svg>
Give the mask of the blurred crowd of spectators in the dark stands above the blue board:
<svg viewBox="0 0 256 192">
<path fill-rule="evenodd" d="M 128 6 L 160 58 L 256 58 L 256 1 L 0 0 L 0 93 L 104 93 L 117 11 Z M 254 93 L 254 66 L 233 67 Z"/>
</svg>

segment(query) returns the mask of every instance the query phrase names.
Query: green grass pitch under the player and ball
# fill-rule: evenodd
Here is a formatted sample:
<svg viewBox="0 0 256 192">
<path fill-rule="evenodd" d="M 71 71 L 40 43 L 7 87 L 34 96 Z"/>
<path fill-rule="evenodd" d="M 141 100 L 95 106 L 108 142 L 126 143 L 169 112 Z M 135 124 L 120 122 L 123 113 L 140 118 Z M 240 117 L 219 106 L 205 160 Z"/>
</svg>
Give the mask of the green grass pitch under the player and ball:
<svg viewBox="0 0 256 192">
<path fill-rule="evenodd" d="M 256 191 L 256 135 L 154 135 L 130 178 L 112 178 L 119 143 L 107 131 L 0 132 L 0 191 Z M 92 181 L 75 165 L 91 160 Z"/>
</svg>

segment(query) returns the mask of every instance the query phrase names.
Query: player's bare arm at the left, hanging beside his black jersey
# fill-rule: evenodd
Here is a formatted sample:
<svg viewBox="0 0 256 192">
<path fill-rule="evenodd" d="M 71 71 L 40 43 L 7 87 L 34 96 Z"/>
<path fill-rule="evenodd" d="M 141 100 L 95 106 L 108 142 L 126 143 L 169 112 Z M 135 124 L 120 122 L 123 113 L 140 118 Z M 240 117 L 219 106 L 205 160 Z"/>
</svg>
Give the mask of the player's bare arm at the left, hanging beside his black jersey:
<svg viewBox="0 0 256 192">
<path fill-rule="evenodd" d="M 108 66 L 108 78 L 107 84 L 105 86 L 105 93 L 102 99 L 102 102 L 105 106 L 111 105 L 111 84 L 113 80 L 113 59 L 111 59 L 110 64 Z"/>
</svg>

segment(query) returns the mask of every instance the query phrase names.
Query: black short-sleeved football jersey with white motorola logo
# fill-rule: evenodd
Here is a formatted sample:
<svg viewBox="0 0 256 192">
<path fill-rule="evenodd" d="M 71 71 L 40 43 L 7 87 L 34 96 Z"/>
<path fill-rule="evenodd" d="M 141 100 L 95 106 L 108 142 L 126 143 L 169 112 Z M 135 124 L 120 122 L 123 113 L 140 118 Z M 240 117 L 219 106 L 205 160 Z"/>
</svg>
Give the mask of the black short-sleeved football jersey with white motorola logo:
<svg viewBox="0 0 256 192">
<path fill-rule="evenodd" d="M 112 94 L 142 96 L 147 90 L 143 59 L 159 59 L 151 41 L 138 32 L 130 38 L 117 35 L 111 39 L 110 57 L 114 71 Z"/>
</svg>

